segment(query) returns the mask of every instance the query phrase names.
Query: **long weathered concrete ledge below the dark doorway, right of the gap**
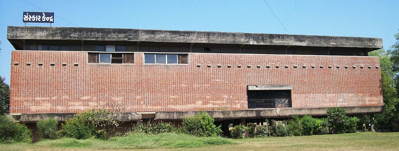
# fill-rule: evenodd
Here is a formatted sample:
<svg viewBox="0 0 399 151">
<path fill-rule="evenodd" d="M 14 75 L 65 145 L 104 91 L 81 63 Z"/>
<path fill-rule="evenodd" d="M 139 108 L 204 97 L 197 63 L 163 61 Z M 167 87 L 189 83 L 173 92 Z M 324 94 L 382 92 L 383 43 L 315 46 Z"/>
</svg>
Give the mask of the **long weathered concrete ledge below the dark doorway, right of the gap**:
<svg viewBox="0 0 399 151">
<path fill-rule="evenodd" d="M 348 115 L 376 114 L 384 111 L 384 106 L 353 106 L 345 108 Z M 280 118 L 292 115 L 326 116 L 327 108 L 267 108 L 250 110 L 217 110 L 206 111 L 215 120 L 240 119 L 240 118 Z M 195 116 L 199 111 L 180 112 L 155 112 L 155 120 L 182 120 Z"/>
</svg>

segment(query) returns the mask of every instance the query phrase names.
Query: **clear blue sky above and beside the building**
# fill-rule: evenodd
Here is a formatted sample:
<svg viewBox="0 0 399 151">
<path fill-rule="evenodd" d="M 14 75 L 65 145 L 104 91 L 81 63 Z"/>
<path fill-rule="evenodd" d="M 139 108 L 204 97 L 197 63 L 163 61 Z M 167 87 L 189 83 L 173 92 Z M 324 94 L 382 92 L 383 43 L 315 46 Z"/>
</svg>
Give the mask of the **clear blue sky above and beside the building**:
<svg viewBox="0 0 399 151">
<path fill-rule="evenodd" d="M 54 27 L 107 27 L 379 37 L 384 48 L 395 43 L 399 0 L 25 0 L 55 12 Z M 22 12 L 42 12 L 23 0 L 0 0 L 0 76 L 10 83 L 7 26 L 23 26 Z M 75 24 L 68 23 L 63 19 Z M 31 23 L 34 26 L 49 24 Z M 31 26 L 31 25 L 30 25 Z"/>
</svg>

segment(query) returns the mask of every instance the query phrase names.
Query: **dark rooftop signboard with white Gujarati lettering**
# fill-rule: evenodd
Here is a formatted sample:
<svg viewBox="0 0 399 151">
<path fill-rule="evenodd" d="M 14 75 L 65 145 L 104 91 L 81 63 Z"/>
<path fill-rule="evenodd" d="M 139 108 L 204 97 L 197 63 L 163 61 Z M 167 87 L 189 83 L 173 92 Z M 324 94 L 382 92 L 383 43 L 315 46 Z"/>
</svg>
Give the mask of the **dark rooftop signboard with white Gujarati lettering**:
<svg viewBox="0 0 399 151">
<path fill-rule="evenodd" d="M 24 23 L 54 23 L 54 12 L 24 12 Z"/>
</svg>

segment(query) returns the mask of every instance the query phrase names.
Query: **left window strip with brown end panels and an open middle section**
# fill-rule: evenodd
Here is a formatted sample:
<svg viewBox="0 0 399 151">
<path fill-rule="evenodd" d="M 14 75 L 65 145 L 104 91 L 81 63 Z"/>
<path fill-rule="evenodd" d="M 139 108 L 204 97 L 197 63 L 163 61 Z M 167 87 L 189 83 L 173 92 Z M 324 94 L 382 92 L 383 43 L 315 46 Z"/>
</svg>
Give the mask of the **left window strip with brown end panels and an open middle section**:
<svg viewBox="0 0 399 151">
<path fill-rule="evenodd" d="M 133 64 L 134 54 L 89 52 L 87 55 L 87 62 L 101 64 Z"/>
</svg>

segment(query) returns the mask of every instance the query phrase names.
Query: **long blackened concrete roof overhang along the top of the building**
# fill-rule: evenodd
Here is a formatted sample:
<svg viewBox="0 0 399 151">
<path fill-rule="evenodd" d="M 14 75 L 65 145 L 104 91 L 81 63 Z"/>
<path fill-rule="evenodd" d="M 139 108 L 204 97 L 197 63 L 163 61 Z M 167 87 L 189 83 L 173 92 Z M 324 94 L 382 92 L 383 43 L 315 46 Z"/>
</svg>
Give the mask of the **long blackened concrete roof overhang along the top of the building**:
<svg viewBox="0 0 399 151">
<path fill-rule="evenodd" d="M 383 48 L 381 38 L 367 37 L 87 27 L 8 26 L 7 39 L 10 41 L 10 43 L 20 43 L 25 39 L 37 39 L 350 47 L 365 48 L 367 51 Z"/>
</svg>

